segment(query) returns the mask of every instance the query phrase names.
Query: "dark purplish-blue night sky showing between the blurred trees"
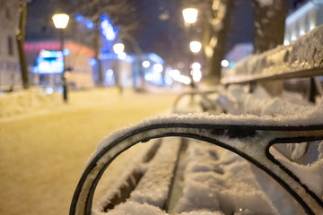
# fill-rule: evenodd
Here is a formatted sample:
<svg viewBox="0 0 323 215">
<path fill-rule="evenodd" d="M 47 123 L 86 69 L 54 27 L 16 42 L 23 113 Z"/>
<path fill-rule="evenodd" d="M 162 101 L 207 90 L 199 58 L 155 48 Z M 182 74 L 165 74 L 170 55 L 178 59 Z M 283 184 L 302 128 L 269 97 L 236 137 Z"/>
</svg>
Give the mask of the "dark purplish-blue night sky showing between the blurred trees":
<svg viewBox="0 0 323 215">
<path fill-rule="evenodd" d="M 227 52 L 235 44 L 249 43 L 253 39 L 253 14 L 250 2 L 251 0 L 234 1 L 230 12 L 231 26 L 226 44 Z M 303 2 L 304 0 L 290 0 L 290 9 Z M 185 1 L 133 0 L 132 3 L 138 11 L 140 22 L 136 39 L 144 53 L 154 52 L 170 64 L 179 62 L 187 55 L 188 37 L 181 15 Z M 53 5 L 53 1 L 50 0 L 34 0 L 29 5 L 27 40 L 39 39 L 40 33 L 41 37 L 56 34 L 56 30 L 51 30 Z"/>
</svg>

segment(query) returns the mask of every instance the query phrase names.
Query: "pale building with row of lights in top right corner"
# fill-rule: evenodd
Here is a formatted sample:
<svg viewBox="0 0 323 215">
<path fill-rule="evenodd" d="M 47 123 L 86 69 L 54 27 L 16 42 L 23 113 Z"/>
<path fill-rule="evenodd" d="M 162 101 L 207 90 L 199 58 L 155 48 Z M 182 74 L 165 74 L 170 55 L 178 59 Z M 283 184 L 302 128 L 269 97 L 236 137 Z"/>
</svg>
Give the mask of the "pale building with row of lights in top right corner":
<svg viewBox="0 0 323 215">
<path fill-rule="evenodd" d="M 311 0 L 289 14 L 285 22 L 284 45 L 323 24 L 323 0 Z"/>
</svg>

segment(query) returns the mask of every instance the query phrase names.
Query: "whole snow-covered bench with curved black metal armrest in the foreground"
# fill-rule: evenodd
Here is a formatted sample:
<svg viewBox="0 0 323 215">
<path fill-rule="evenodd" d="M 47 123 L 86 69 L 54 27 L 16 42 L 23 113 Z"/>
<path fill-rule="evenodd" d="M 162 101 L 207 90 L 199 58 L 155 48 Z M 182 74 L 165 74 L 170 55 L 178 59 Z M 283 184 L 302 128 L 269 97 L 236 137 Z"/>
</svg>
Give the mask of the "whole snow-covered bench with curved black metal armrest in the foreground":
<svg viewBox="0 0 323 215">
<path fill-rule="evenodd" d="M 246 61 L 247 63 L 241 63 L 242 67 L 238 66 L 237 71 L 235 72 L 240 75 L 240 77 L 226 77 L 223 79 L 223 84 L 254 82 L 260 79 L 266 81 L 275 78 L 311 77 L 313 75 L 321 74 L 323 66 L 323 49 L 321 48 L 322 45 L 319 44 L 319 41 L 322 41 L 322 30 L 323 28 L 319 28 L 310 32 L 309 35 L 294 42 L 289 47 L 285 47 L 285 50 L 284 47 L 277 47 L 267 54 L 249 58 L 249 61 Z M 306 47 L 301 46 L 301 44 L 306 41 L 309 45 Z M 240 70 L 239 68 L 244 69 Z M 258 75 L 258 73 L 253 74 L 255 72 L 249 73 L 250 68 L 255 68 L 255 71 L 265 72 L 261 75 Z M 274 72 L 272 70 L 274 70 Z M 247 77 L 239 71 L 245 71 L 246 73 L 249 73 L 249 76 Z M 140 163 L 144 163 L 143 160 L 145 159 L 138 161 L 138 165 L 141 167 L 139 168 L 140 170 L 136 167 L 133 168 L 134 171 L 132 171 L 137 174 L 132 174 L 130 171 L 130 174 L 127 174 L 124 179 L 121 178 L 121 181 L 127 182 L 128 176 L 132 176 L 126 184 L 120 183 L 120 186 L 116 187 L 116 192 L 108 194 L 108 204 L 107 202 L 103 202 L 100 211 L 92 211 L 92 198 L 96 185 L 100 181 L 100 176 L 102 176 L 105 169 L 108 168 L 113 159 L 116 159 L 122 151 L 127 150 L 138 142 L 148 142 L 152 139 L 161 139 L 162 137 L 170 136 L 187 137 L 202 142 L 209 142 L 220 146 L 223 149 L 231 150 L 243 159 L 246 159 L 257 166 L 259 169 L 265 171 L 268 176 L 274 178 L 279 185 L 283 186 L 284 189 L 292 195 L 306 213 L 323 214 L 322 105 L 299 106 L 285 102 L 284 99 L 257 99 L 254 95 L 248 93 L 242 95 L 244 92 L 237 89 L 229 88 L 229 90 L 223 90 L 219 88 L 214 90 L 220 95 L 218 96 L 219 99 L 216 99 L 218 102 L 216 104 L 221 105 L 226 112 L 235 114 L 242 113 L 242 115 L 216 116 L 208 113 L 196 113 L 181 116 L 177 114 L 170 116 L 155 116 L 144 120 L 144 122 L 138 125 L 119 130 L 117 133 L 111 134 L 107 139 L 100 142 L 97 152 L 93 155 L 85 168 L 83 176 L 76 187 L 70 214 L 104 214 L 105 211 L 109 210 L 109 207 L 114 207 L 114 205 L 109 206 L 109 202 L 113 202 L 114 200 L 117 203 L 125 202 L 126 199 L 132 199 L 134 201 L 128 202 L 127 206 L 121 205 L 119 211 L 115 214 L 126 214 L 126 212 L 129 212 L 127 207 L 132 207 L 133 211 L 137 211 L 137 214 L 141 214 L 138 211 L 144 211 L 147 214 L 165 214 L 162 213 L 161 210 L 163 210 L 165 204 L 171 203 L 170 200 L 167 199 L 169 197 L 168 193 L 170 193 L 170 180 L 172 180 L 172 175 L 170 173 L 174 172 L 174 168 L 176 168 L 176 156 L 180 151 L 179 138 L 170 141 L 170 144 L 174 145 L 171 147 L 164 146 L 165 148 L 162 148 L 163 145 L 166 145 L 165 140 L 162 141 L 159 150 L 156 150 L 160 153 L 160 156 L 157 155 L 156 151 L 156 153 L 154 153 L 155 160 L 158 160 L 159 162 L 155 163 L 153 162 L 153 159 L 151 159 L 149 162 L 152 162 L 151 164 L 139 165 Z M 202 94 L 211 95 L 214 91 Z M 194 93 L 201 94 L 200 92 Z M 229 99 L 231 103 L 222 103 L 222 98 Z M 214 103 L 207 103 L 210 100 L 211 99 L 205 99 L 206 106 L 210 105 L 213 107 Z M 243 111 L 239 113 L 241 109 Z M 276 150 L 281 150 L 281 152 L 279 152 L 271 147 L 279 143 L 288 144 L 293 142 L 316 142 L 319 146 L 318 160 L 309 166 L 296 165 L 289 160 L 292 159 L 293 155 L 284 153 L 286 148 L 276 147 Z M 196 142 L 195 145 L 201 144 L 201 142 Z M 252 178 L 239 177 L 243 175 L 243 171 L 239 169 L 245 169 L 245 167 L 236 164 L 230 166 L 231 168 L 228 168 L 226 173 L 223 174 L 222 165 L 231 164 L 231 162 L 233 162 L 232 160 L 235 159 L 230 156 L 223 156 L 223 153 L 222 156 L 220 156 L 221 153 L 213 149 L 196 149 L 197 148 L 194 145 L 189 148 L 189 151 L 192 151 L 192 158 L 198 159 L 198 162 L 194 162 L 195 159 L 187 160 L 190 167 L 188 168 L 190 177 L 187 177 L 184 180 L 184 183 L 188 186 L 183 192 L 184 194 L 187 194 L 188 198 L 183 202 L 179 202 L 180 207 L 186 207 L 188 209 L 188 205 L 207 204 L 210 206 L 209 204 L 213 203 L 214 211 L 216 211 L 216 209 L 220 207 L 219 203 L 225 204 L 225 201 L 223 202 L 223 200 L 234 202 L 235 198 L 239 199 L 238 197 L 240 195 L 246 196 L 247 201 L 241 201 L 243 203 L 248 203 L 248 200 L 254 200 L 255 198 L 266 202 L 266 198 L 263 197 L 261 193 L 258 193 L 257 190 L 251 194 L 248 193 L 253 188 L 245 190 L 245 193 L 239 192 L 239 189 L 243 190 L 242 185 L 248 186 L 249 184 L 254 184 L 254 179 Z M 282 154 L 284 154 L 285 157 L 281 156 Z M 240 161 L 238 160 L 237 162 L 239 163 Z M 166 168 L 166 166 L 169 168 Z M 196 168 L 208 169 L 208 167 L 212 167 L 213 171 L 221 176 L 205 176 L 201 174 L 195 176 L 193 174 L 194 169 Z M 227 186 L 234 186 L 234 183 L 230 183 L 230 177 L 233 177 L 234 174 L 237 174 L 237 177 L 239 177 L 242 182 L 237 183 L 238 186 L 234 188 L 238 189 L 238 191 L 229 192 L 228 190 L 223 189 L 223 187 L 227 188 Z M 206 183 L 206 185 L 198 185 L 198 178 L 202 180 L 202 184 Z M 154 179 L 156 181 L 153 181 Z M 164 180 L 161 181 L 161 179 Z M 207 182 L 203 180 L 206 180 Z M 216 185 L 216 182 L 219 184 Z M 133 187 L 123 189 L 122 187 L 125 187 L 125 185 Z M 199 193 L 200 195 L 198 195 L 198 193 L 189 192 L 192 190 L 189 187 L 195 185 L 198 185 L 198 187 L 203 190 L 203 192 Z M 119 192 L 122 189 L 134 191 L 131 194 L 128 191 L 124 192 L 126 194 L 123 197 L 122 193 Z M 210 192 L 214 189 L 219 190 L 219 192 L 221 191 L 221 195 L 215 196 L 214 193 Z M 203 194 L 208 195 L 208 198 L 210 198 L 211 195 L 211 197 L 214 197 L 214 201 L 209 201 L 209 199 L 208 201 L 204 201 L 203 196 L 205 195 Z M 251 198 L 250 195 L 253 195 L 253 198 Z M 247 210 L 245 211 L 246 213 L 243 213 L 242 208 L 237 206 L 240 205 L 241 202 L 236 202 L 235 207 L 238 208 L 231 206 L 230 209 L 233 211 L 230 212 L 234 214 L 255 212 Z M 147 204 L 157 206 L 158 208 L 148 207 L 146 206 Z M 249 204 L 251 203 L 249 202 Z M 255 204 L 257 204 L 257 202 Z M 228 205 L 229 204 L 226 204 L 222 208 L 225 209 L 226 207 L 229 207 Z M 275 214 L 275 211 L 270 211 L 270 205 L 264 206 L 264 204 L 260 203 L 258 208 L 260 208 L 259 210 L 263 210 L 256 211 L 258 214 L 266 214 L 266 212 L 268 214 Z M 221 212 L 203 212 L 204 214 L 223 214 Z M 196 213 L 198 212 L 195 211 L 191 214 Z M 202 211 L 200 211 L 200 213 L 202 213 Z"/>
</svg>

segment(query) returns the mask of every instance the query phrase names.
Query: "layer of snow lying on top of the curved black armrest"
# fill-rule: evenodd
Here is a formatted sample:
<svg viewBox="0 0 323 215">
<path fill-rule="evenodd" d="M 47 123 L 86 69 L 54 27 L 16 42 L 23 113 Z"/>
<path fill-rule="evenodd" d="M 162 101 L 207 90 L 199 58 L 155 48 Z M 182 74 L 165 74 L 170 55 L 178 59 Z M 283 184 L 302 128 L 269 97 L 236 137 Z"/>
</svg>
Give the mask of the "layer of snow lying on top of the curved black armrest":
<svg viewBox="0 0 323 215">
<path fill-rule="evenodd" d="M 274 107 L 274 106 L 273 106 Z M 287 108 L 287 107 L 286 107 Z M 289 108 L 289 107 L 288 107 Z M 296 110 L 295 110 L 296 111 Z M 195 113 L 185 116 L 171 114 L 168 116 L 152 116 L 144 119 L 143 122 L 131 126 L 124 127 L 115 133 L 112 133 L 104 139 L 97 147 L 97 152 L 100 152 L 110 142 L 121 138 L 127 133 L 134 133 L 137 130 L 149 125 L 266 125 L 266 126 L 308 126 L 308 125 L 323 125 L 323 105 L 312 107 L 300 107 L 297 112 L 285 110 L 282 115 L 275 116 L 255 116 L 244 114 L 240 116 L 232 116 L 222 114 L 220 116 L 210 115 L 208 113 Z M 96 153 L 92 156 L 94 158 Z"/>
</svg>

